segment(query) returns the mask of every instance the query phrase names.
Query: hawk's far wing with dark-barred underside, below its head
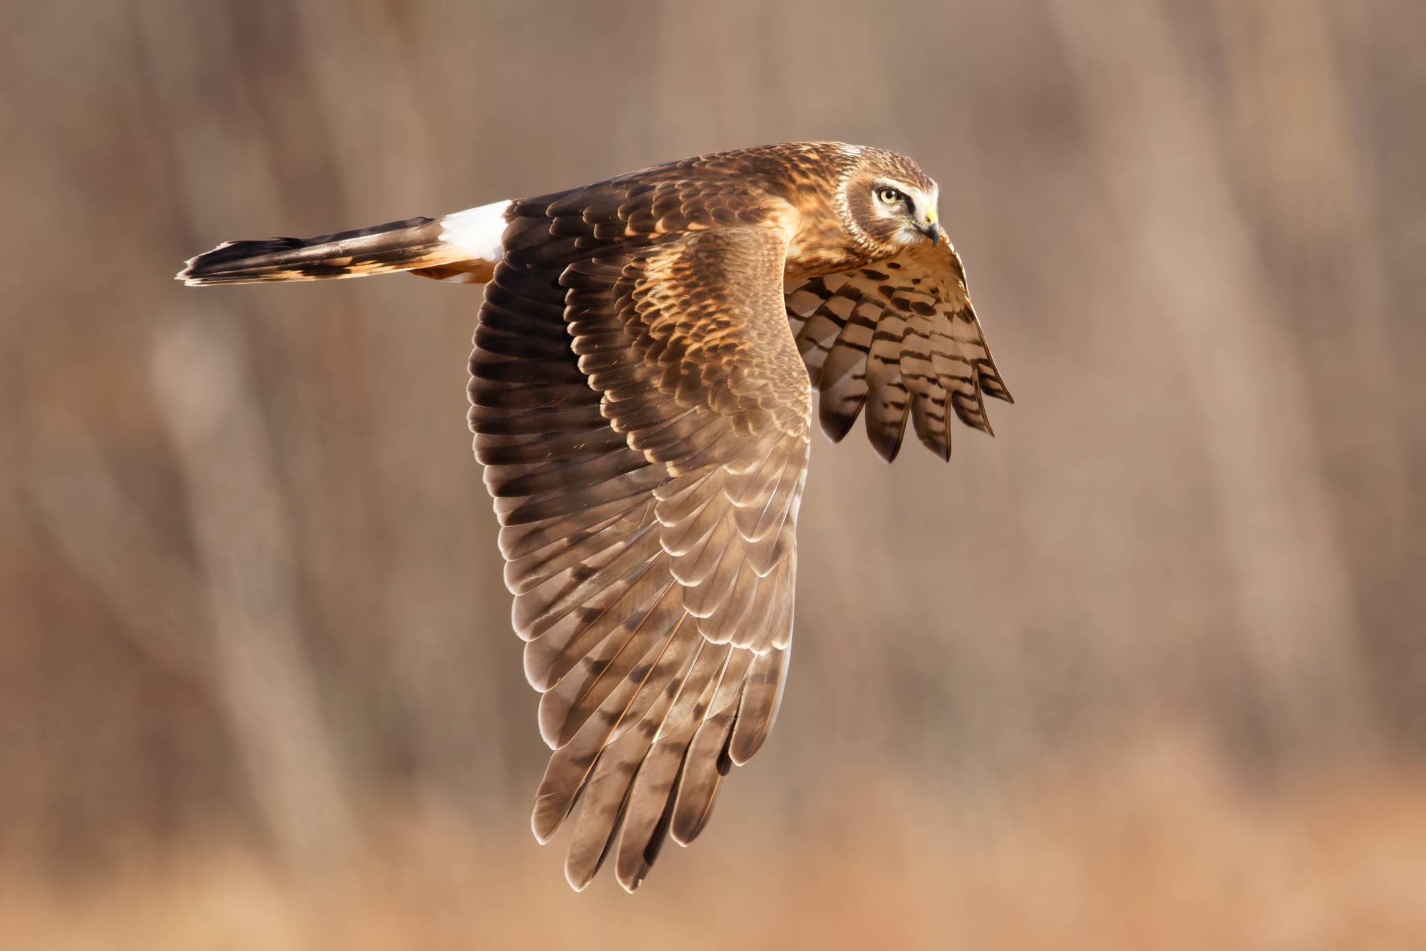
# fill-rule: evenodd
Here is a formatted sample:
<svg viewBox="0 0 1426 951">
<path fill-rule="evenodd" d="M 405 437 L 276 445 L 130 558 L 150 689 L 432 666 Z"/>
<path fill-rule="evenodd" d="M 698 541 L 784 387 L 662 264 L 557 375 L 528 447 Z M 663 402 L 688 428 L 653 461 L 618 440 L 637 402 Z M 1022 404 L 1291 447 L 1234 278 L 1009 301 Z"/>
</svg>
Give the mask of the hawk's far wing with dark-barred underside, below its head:
<svg viewBox="0 0 1426 951">
<path fill-rule="evenodd" d="M 906 421 L 931 452 L 951 458 L 950 416 L 991 432 L 984 396 L 1012 402 L 991 359 L 965 269 L 941 231 L 877 264 L 789 281 L 787 318 L 811 384 L 823 432 L 840 441 L 863 406 L 867 436 L 888 462 Z"/>
</svg>

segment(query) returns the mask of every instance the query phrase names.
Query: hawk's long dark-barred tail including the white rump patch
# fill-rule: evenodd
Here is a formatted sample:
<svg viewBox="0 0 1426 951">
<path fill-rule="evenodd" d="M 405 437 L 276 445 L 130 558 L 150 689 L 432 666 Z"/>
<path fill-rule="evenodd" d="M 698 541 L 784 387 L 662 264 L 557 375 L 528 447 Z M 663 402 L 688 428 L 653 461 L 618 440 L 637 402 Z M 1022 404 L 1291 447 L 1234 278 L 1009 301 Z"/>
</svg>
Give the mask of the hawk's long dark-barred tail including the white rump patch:
<svg viewBox="0 0 1426 951">
<path fill-rule="evenodd" d="M 225 241 L 185 262 L 188 285 L 355 278 L 411 271 L 435 279 L 483 284 L 503 250 L 508 201 L 442 218 L 406 218 L 315 238 Z"/>
</svg>

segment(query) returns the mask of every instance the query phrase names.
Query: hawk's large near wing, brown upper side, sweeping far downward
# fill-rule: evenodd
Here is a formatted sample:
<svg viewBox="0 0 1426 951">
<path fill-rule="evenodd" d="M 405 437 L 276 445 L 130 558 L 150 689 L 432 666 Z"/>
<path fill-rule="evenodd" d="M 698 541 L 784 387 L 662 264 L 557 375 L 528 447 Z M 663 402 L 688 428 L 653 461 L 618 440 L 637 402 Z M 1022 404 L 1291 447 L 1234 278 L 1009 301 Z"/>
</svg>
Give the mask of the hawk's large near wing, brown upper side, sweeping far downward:
<svg viewBox="0 0 1426 951">
<path fill-rule="evenodd" d="M 702 831 L 776 716 L 810 392 L 776 217 L 677 183 L 515 202 L 471 356 L 526 676 L 555 750 L 533 828 L 582 800 L 566 877 L 636 888 Z M 686 195 L 683 195 L 686 198 Z M 674 227 L 680 225 L 680 227 Z"/>
</svg>

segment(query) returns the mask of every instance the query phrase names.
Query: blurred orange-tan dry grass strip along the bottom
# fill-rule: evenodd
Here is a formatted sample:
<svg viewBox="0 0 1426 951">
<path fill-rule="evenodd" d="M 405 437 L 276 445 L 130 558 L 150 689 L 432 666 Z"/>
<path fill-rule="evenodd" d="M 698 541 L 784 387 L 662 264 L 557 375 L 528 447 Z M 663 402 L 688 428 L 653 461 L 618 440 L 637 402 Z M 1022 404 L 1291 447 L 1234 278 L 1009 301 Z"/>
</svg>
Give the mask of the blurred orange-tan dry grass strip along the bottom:
<svg viewBox="0 0 1426 951">
<path fill-rule="evenodd" d="M 359 857 L 292 874 L 234 845 L 131 860 L 81 885 L 0 877 L 0 934 L 66 951 L 398 948 L 1245 948 L 1426 941 L 1426 777 L 1235 788 L 1192 744 L 1042 777 L 958 821 L 918 793 L 729 845 L 635 897 L 573 895 L 559 857 L 406 804 Z M 854 814 L 853 814 L 854 813 Z"/>
</svg>

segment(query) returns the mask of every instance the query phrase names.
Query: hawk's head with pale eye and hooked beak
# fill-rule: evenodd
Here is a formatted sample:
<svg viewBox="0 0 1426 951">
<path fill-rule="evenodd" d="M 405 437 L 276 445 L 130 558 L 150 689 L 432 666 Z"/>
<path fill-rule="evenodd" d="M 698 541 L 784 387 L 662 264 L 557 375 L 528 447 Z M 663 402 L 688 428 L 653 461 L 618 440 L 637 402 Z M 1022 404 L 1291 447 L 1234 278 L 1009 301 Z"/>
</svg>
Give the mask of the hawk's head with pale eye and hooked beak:
<svg viewBox="0 0 1426 951">
<path fill-rule="evenodd" d="M 838 195 L 847 228 L 886 257 L 941 240 L 940 187 L 914 161 L 880 148 L 858 150 Z"/>
</svg>

